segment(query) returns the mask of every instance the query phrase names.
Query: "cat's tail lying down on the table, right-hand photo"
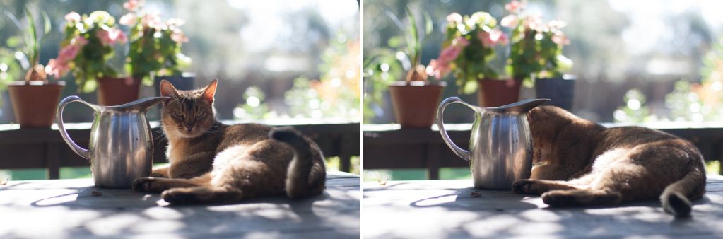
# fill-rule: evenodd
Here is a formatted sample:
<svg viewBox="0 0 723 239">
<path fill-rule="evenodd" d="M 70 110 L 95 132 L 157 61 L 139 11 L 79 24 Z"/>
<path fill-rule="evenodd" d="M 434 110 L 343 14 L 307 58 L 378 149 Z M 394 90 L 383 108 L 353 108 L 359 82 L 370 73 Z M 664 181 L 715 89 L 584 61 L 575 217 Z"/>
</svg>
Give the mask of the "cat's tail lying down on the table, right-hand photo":
<svg viewBox="0 0 723 239">
<path fill-rule="evenodd" d="M 660 195 L 663 209 L 675 217 L 689 217 L 691 199 L 698 199 L 706 191 L 706 174 L 703 169 L 693 167 L 677 182 L 668 185 Z"/>
</svg>

